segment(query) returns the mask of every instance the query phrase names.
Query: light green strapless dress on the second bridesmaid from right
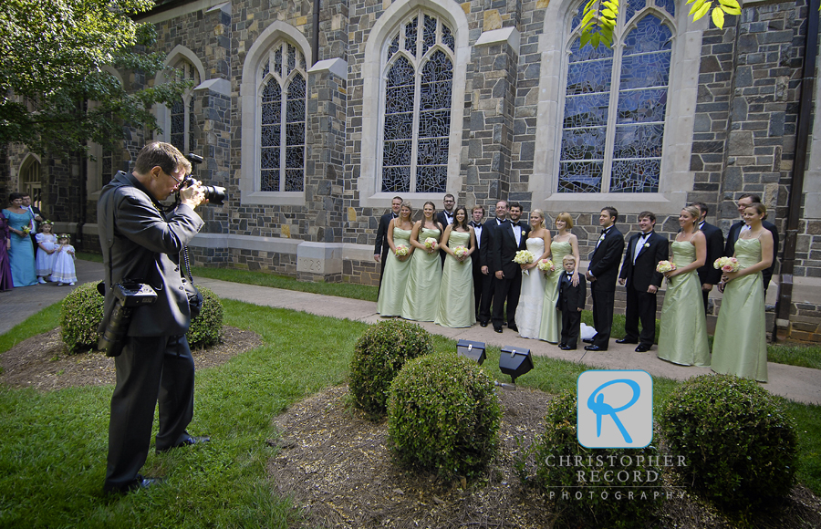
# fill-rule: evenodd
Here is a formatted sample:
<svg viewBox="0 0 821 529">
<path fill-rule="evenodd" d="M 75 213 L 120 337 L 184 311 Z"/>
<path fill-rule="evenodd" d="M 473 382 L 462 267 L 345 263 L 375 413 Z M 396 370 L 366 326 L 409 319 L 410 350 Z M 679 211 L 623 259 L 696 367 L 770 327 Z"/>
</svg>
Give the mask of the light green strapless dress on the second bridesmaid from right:
<svg viewBox="0 0 821 529">
<path fill-rule="evenodd" d="M 695 261 L 695 246 L 674 241 L 672 262 L 678 267 Z M 709 366 L 707 320 L 697 270 L 676 275 L 667 282 L 661 307 L 659 358 L 682 366 Z"/>
</svg>

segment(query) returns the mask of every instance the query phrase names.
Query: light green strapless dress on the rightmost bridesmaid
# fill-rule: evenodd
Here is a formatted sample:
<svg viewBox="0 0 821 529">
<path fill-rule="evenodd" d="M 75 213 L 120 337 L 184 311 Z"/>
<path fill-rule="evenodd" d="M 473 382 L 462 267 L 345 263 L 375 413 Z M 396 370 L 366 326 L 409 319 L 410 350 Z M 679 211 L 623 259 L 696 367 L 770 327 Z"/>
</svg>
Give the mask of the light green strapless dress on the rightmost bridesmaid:
<svg viewBox="0 0 821 529">
<path fill-rule="evenodd" d="M 742 268 L 761 261 L 761 241 L 739 239 L 735 258 Z M 724 288 L 712 341 L 712 370 L 745 379 L 767 381 L 764 283 L 761 272 L 733 279 Z"/>
</svg>

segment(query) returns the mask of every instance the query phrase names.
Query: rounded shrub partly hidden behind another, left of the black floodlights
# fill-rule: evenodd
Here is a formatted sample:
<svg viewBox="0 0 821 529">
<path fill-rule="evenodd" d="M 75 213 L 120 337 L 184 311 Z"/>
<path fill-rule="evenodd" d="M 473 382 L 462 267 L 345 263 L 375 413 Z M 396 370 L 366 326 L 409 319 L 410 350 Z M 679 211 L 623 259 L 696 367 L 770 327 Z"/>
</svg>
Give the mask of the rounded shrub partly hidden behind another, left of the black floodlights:
<svg viewBox="0 0 821 529">
<path fill-rule="evenodd" d="M 390 319 L 368 327 L 350 362 L 349 389 L 356 405 L 384 415 L 390 382 L 406 361 L 431 352 L 431 335 L 415 323 Z"/>
</svg>

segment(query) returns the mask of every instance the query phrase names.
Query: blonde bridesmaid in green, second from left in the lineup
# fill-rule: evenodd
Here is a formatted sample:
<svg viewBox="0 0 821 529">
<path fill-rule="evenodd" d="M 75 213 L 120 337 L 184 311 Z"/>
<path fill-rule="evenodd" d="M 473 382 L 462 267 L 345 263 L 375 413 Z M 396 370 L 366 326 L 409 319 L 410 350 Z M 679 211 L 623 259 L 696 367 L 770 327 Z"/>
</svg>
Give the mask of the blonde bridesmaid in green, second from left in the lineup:
<svg viewBox="0 0 821 529">
<path fill-rule="evenodd" d="M 433 219 L 436 206 L 425 202 L 421 221 L 413 224 L 411 244 L 416 248 L 411 257 L 411 275 L 402 302 L 402 317 L 413 321 L 433 321 L 439 310 L 439 290 L 442 286 L 442 260 L 439 258 L 439 242 L 442 224 Z M 436 239 L 430 248 L 426 239 Z"/>
</svg>

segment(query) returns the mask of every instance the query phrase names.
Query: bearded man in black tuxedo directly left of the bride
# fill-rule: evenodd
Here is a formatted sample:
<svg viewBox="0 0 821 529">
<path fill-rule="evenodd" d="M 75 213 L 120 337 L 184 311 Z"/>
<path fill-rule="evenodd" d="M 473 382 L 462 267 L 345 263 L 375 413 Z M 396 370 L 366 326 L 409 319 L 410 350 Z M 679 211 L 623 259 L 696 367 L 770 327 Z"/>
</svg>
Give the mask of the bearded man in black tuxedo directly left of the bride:
<svg viewBox="0 0 821 529">
<path fill-rule="evenodd" d="M 510 220 L 502 223 L 494 233 L 494 331 L 502 332 L 504 322 L 504 302 L 507 301 L 507 328 L 518 332 L 516 327 L 516 306 L 522 291 L 522 268 L 514 263 L 516 252 L 525 249 L 530 226 L 520 223 L 522 204 L 510 204 Z"/>
</svg>

